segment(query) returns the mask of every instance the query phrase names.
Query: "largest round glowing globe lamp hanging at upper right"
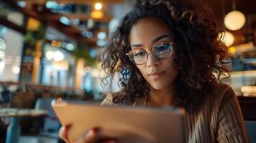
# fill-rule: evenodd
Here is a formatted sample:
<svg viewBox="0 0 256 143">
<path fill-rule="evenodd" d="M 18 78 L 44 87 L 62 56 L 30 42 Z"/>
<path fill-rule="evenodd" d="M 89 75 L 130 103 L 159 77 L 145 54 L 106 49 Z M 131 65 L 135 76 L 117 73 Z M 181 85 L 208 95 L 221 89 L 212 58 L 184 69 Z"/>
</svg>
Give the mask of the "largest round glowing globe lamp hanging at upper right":
<svg viewBox="0 0 256 143">
<path fill-rule="evenodd" d="M 224 25 L 229 30 L 238 30 L 245 25 L 245 15 L 240 11 L 231 11 L 224 17 Z"/>
</svg>

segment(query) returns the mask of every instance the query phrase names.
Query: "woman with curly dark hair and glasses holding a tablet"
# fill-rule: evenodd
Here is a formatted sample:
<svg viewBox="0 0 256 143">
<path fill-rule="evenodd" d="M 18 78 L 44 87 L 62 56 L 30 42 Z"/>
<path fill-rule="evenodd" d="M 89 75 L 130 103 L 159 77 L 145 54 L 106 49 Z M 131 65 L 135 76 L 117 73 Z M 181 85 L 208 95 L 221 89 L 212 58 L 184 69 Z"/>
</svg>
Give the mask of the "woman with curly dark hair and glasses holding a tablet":
<svg viewBox="0 0 256 143">
<path fill-rule="evenodd" d="M 102 104 L 182 107 L 189 142 L 249 142 L 237 97 L 220 81 L 227 47 L 218 34 L 212 11 L 200 5 L 137 0 L 110 37 L 103 62 L 107 77 L 120 74 L 121 92 Z M 95 142 L 97 133 L 77 142 Z M 66 134 L 64 127 L 60 137 L 67 141 Z"/>
</svg>

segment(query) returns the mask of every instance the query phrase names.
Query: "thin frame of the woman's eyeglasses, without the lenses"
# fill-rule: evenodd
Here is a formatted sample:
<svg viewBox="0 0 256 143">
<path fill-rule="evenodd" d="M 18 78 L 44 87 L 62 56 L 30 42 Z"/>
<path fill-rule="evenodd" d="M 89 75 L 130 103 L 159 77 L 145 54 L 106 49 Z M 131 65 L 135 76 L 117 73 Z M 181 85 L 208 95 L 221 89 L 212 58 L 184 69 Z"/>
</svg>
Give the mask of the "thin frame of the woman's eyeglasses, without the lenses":
<svg viewBox="0 0 256 143">
<path fill-rule="evenodd" d="M 174 49 L 174 41 L 157 41 L 157 42 L 154 43 L 154 44 L 151 46 L 151 48 L 148 49 L 148 50 L 143 49 L 143 48 L 141 48 L 141 47 L 134 48 L 134 49 L 143 49 L 144 51 L 146 51 L 146 54 L 147 54 L 147 59 L 146 59 L 146 61 L 147 61 L 147 60 L 148 60 L 148 56 L 149 56 L 149 54 L 150 54 L 150 51 L 152 51 L 152 49 L 153 49 L 153 46 L 156 46 L 156 44 L 158 44 L 158 43 L 160 43 L 160 42 L 168 42 L 168 44 L 170 44 L 171 47 L 172 47 L 171 53 L 170 53 L 169 56 L 167 56 L 166 58 L 158 58 L 158 57 L 155 56 L 155 54 L 153 54 L 153 53 L 152 53 L 152 54 L 153 54 L 153 56 L 156 57 L 156 59 L 168 59 L 168 58 L 171 56 L 172 52 L 174 51 L 174 50 L 173 50 L 173 49 Z M 149 50 L 150 50 L 150 51 L 149 51 Z M 136 64 L 136 63 L 134 62 L 134 60 L 132 60 L 132 59 L 130 58 L 130 56 L 129 56 L 129 54 L 131 53 L 131 51 L 133 51 L 133 49 L 131 49 L 130 51 L 128 51 L 127 53 L 125 53 L 125 55 L 129 57 L 129 59 L 133 62 L 133 64 Z M 143 64 L 145 64 L 146 61 L 143 62 Z M 142 65 L 142 64 L 137 64 L 137 65 Z"/>
</svg>

